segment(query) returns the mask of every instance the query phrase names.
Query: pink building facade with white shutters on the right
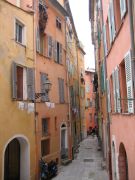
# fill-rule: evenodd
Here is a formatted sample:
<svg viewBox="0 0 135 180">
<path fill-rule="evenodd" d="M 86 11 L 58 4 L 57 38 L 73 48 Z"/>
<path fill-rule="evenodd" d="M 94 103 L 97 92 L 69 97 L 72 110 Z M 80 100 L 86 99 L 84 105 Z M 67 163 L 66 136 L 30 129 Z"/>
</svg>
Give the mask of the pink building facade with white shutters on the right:
<svg viewBox="0 0 135 180">
<path fill-rule="evenodd" d="M 104 45 L 107 102 L 103 106 L 108 109 L 106 136 L 111 150 L 110 179 L 134 180 L 135 45 L 132 1 L 102 0 L 98 1 L 97 7 L 97 14 L 93 14 L 97 16 L 98 27 L 92 28 L 101 35 Z M 95 34 L 93 41 L 98 49 Z"/>
</svg>

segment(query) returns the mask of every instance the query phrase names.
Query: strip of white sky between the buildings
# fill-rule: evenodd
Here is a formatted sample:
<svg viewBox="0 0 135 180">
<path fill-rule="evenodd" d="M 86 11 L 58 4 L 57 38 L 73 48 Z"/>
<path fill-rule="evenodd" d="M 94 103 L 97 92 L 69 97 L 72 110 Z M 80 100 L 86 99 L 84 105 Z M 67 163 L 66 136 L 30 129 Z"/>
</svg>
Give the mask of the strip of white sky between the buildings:
<svg viewBox="0 0 135 180">
<path fill-rule="evenodd" d="M 84 45 L 85 69 L 95 68 L 94 47 L 91 43 L 89 0 L 69 0 L 79 40 Z"/>
</svg>

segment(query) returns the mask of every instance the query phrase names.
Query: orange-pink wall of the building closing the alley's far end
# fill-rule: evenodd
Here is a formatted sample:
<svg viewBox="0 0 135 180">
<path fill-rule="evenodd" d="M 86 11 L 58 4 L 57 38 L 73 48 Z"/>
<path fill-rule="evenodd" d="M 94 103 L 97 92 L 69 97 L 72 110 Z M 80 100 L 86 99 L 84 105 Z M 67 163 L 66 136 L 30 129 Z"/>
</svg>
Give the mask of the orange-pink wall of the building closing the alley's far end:
<svg viewBox="0 0 135 180">
<path fill-rule="evenodd" d="M 89 84 L 90 85 L 90 92 L 87 93 L 85 91 L 85 100 L 87 100 L 87 98 L 92 98 L 92 101 L 95 100 L 95 94 L 93 93 L 93 83 L 92 83 L 92 76 L 94 75 L 91 72 L 88 72 L 88 74 L 86 74 L 85 72 L 85 90 L 86 90 L 86 85 Z M 90 121 L 90 114 L 92 114 L 92 120 Z M 92 108 L 88 108 L 85 109 L 85 121 L 86 121 L 86 128 L 87 130 L 89 130 L 89 127 L 95 127 L 95 121 L 94 121 L 94 114 L 95 114 L 95 107 Z"/>
</svg>

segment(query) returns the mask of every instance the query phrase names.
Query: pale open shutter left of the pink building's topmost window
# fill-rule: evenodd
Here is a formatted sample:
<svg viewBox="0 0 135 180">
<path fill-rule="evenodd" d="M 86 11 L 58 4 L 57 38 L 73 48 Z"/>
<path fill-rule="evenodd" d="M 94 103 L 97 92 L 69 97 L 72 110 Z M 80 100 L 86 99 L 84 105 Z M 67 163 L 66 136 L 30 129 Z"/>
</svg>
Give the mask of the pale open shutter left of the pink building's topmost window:
<svg viewBox="0 0 135 180">
<path fill-rule="evenodd" d="M 111 8 L 111 31 L 112 31 L 112 39 L 114 40 L 115 38 L 115 19 L 114 19 L 114 0 L 111 1 L 110 4 Z"/>
</svg>

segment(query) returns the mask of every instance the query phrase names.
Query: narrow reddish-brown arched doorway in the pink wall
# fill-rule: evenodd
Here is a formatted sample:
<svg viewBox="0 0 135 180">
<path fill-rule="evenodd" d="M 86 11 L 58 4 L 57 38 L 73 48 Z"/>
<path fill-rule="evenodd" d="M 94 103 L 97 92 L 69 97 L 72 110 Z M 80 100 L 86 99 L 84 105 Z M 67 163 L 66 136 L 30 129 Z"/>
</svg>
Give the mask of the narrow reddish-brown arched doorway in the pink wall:
<svg viewBox="0 0 135 180">
<path fill-rule="evenodd" d="M 123 143 L 119 147 L 119 179 L 128 180 L 128 159 Z"/>
</svg>

